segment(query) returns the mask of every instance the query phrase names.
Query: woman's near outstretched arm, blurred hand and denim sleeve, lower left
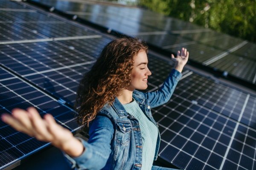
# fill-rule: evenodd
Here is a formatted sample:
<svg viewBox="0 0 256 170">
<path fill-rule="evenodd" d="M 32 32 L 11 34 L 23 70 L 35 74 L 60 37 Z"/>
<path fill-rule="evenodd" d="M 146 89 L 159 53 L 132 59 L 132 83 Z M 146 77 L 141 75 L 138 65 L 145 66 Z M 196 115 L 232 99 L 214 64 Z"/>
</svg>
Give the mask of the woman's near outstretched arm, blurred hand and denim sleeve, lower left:
<svg viewBox="0 0 256 170">
<path fill-rule="evenodd" d="M 96 116 L 90 127 L 88 142 L 75 138 L 69 130 L 58 125 L 52 115 L 46 114 L 42 119 L 35 108 L 28 108 L 26 111 L 16 108 L 12 115 L 3 114 L 1 119 L 31 137 L 52 142 L 52 145 L 63 151 L 71 166 L 76 166 L 79 170 L 102 169 L 111 153 L 114 127 L 106 116 Z"/>
</svg>

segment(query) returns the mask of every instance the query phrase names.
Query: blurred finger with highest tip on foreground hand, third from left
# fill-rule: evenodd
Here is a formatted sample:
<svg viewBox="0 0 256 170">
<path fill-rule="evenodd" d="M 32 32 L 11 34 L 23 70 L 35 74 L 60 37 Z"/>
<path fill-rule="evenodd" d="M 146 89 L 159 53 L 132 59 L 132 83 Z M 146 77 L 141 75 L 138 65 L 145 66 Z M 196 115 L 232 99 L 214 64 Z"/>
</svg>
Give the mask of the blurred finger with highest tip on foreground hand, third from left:
<svg viewBox="0 0 256 170">
<path fill-rule="evenodd" d="M 40 114 L 35 108 L 27 108 L 28 113 L 30 114 L 30 120 L 32 122 L 32 127 L 35 130 L 35 136 L 38 140 L 46 141 L 51 135 L 47 131 L 46 124 L 41 118 Z"/>
</svg>

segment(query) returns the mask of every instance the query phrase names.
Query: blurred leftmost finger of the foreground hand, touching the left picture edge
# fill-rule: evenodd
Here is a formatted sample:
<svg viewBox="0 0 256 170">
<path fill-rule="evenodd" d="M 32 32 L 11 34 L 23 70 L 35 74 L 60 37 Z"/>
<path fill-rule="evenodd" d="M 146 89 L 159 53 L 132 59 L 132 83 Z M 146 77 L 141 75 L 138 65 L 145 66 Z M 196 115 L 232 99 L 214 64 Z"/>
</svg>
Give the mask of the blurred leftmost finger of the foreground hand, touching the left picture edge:
<svg viewBox="0 0 256 170">
<path fill-rule="evenodd" d="M 27 130 L 26 127 L 24 127 L 20 121 L 18 121 L 15 117 L 9 115 L 9 114 L 3 114 L 1 116 L 1 119 L 3 122 L 9 124 L 13 128 L 15 128 L 17 131 L 22 131 L 23 133 L 26 133 L 27 135 L 34 137 L 34 134 L 31 133 L 29 130 Z"/>
</svg>

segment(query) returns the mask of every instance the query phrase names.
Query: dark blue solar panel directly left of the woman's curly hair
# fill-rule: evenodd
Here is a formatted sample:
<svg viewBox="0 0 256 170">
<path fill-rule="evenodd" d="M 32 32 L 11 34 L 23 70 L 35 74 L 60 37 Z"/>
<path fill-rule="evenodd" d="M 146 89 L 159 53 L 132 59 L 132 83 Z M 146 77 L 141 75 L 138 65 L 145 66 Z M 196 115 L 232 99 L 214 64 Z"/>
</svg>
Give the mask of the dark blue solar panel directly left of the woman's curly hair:
<svg viewBox="0 0 256 170">
<path fill-rule="evenodd" d="M 70 105 L 79 80 L 95 62 L 60 42 L 6 44 L 0 48 L 0 64 Z"/>
</svg>

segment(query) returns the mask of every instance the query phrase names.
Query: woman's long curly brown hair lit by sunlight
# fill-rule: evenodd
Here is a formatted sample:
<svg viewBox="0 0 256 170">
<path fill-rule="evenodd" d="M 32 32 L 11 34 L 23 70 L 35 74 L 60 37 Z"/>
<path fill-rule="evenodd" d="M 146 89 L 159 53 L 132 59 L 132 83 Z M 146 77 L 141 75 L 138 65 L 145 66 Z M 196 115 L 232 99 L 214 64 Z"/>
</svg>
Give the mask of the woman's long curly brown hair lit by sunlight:
<svg viewBox="0 0 256 170">
<path fill-rule="evenodd" d="M 129 87 L 134 57 L 148 45 L 138 38 L 123 37 L 109 42 L 90 71 L 79 83 L 75 108 L 76 121 L 88 132 L 89 122 L 108 102 L 113 105 L 118 91 Z M 80 107 L 78 107 L 80 106 Z"/>
</svg>

